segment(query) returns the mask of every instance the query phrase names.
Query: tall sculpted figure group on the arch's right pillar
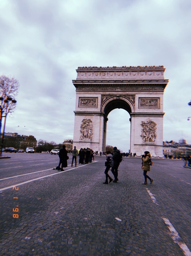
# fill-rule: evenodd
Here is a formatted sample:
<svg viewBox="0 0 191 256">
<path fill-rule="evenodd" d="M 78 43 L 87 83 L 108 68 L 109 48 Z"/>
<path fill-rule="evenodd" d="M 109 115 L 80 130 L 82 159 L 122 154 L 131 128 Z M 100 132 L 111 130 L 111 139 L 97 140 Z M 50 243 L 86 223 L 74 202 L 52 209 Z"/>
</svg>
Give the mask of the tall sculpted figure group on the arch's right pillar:
<svg viewBox="0 0 191 256">
<path fill-rule="evenodd" d="M 141 121 L 141 138 L 143 142 L 155 142 L 156 140 L 156 123 L 150 118 Z"/>
</svg>

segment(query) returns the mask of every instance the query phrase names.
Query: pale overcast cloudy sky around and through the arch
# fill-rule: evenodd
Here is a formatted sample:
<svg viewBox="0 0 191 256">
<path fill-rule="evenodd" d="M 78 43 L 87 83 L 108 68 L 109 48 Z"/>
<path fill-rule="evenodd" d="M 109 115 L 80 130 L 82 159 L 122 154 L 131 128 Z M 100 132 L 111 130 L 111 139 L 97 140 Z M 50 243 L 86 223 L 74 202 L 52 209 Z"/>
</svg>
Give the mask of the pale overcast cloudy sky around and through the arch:
<svg viewBox="0 0 191 256">
<path fill-rule="evenodd" d="M 62 143 L 73 138 L 78 67 L 164 65 L 163 140 L 191 144 L 190 1 L 1 0 L 0 10 L 0 75 L 20 84 L 6 132 Z M 129 117 L 108 115 L 106 143 L 125 152 Z"/>
</svg>

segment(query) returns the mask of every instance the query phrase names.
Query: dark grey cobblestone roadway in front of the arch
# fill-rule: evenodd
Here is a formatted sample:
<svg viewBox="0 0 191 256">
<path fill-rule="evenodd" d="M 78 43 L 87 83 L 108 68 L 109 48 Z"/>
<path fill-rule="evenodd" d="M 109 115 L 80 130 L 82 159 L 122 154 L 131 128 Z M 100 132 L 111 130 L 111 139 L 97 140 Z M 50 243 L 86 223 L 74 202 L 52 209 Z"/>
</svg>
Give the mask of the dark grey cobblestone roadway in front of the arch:
<svg viewBox="0 0 191 256">
<path fill-rule="evenodd" d="M 191 177 L 183 161 L 154 159 L 148 173 L 154 183 L 148 186 L 141 184 L 140 158 L 124 158 L 119 182 L 110 184 L 103 184 L 105 157 L 95 161 L 68 166 L 65 172 L 52 170 L 56 165 L 48 161 L 43 167 L 24 169 L 23 165 L 7 172 L 1 165 L 1 179 L 51 170 L 0 180 L 0 254 L 191 255 Z M 58 174 L 18 185 L 18 190 L 4 189 L 54 173 Z M 13 218 L 16 207 L 19 217 Z M 164 219 L 178 232 L 175 242 L 175 232 L 170 232 Z M 185 251 L 180 244 L 187 246 Z"/>
</svg>

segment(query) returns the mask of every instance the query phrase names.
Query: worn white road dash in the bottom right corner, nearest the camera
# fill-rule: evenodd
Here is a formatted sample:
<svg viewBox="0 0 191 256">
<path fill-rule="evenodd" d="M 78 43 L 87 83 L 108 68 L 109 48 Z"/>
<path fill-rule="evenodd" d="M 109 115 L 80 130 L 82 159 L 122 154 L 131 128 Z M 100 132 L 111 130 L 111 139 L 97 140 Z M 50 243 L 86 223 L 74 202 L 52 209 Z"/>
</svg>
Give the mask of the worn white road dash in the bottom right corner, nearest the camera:
<svg viewBox="0 0 191 256">
<path fill-rule="evenodd" d="M 191 256 L 191 252 L 188 249 L 188 247 L 183 242 L 182 238 L 178 235 L 178 232 L 175 230 L 173 225 L 170 223 L 170 221 L 167 218 L 162 217 L 163 221 L 167 225 L 168 229 L 170 230 L 170 237 L 173 239 L 175 243 L 179 245 L 181 250 L 183 250 L 184 255 Z"/>
</svg>

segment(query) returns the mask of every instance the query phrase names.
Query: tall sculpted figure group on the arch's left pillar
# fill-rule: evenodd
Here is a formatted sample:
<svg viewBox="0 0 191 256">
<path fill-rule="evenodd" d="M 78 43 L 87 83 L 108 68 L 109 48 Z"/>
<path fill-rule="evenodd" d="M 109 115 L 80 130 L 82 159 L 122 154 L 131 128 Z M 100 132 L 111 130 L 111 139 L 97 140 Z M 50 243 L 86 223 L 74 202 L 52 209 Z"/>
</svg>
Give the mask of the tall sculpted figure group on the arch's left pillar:
<svg viewBox="0 0 191 256">
<path fill-rule="evenodd" d="M 80 126 L 80 140 L 91 141 L 93 136 L 93 123 L 91 119 L 83 119 Z"/>
</svg>

